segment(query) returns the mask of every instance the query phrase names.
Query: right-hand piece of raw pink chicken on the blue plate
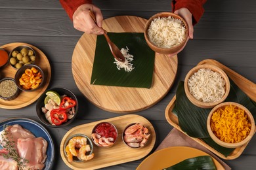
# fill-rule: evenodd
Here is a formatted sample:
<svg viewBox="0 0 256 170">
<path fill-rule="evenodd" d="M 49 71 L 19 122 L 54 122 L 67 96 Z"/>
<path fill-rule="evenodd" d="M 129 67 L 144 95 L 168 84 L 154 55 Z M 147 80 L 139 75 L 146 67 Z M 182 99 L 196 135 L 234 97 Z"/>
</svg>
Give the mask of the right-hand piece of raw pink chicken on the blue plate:
<svg viewBox="0 0 256 170">
<path fill-rule="evenodd" d="M 43 137 L 19 138 L 17 142 L 18 154 L 29 162 L 26 163 L 28 169 L 43 169 L 47 158 L 47 141 Z"/>
</svg>

